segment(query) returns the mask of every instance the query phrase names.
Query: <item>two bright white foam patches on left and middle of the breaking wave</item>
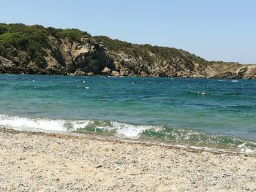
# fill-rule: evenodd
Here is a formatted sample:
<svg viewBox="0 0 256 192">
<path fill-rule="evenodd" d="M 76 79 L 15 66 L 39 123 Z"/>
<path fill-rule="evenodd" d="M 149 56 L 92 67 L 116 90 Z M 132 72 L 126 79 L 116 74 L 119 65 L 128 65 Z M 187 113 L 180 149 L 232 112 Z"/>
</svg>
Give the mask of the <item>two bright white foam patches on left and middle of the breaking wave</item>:
<svg viewBox="0 0 256 192">
<path fill-rule="evenodd" d="M 37 129 L 47 131 L 76 131 L 79 128 L 86 128 L 93 120 L 53 120 L 50 118 L 21 118 L 18 116 L 0 115 L 0 125 L 16 129 Z M 96 126 L 103 131 L 116 131 L 116 134 L 124 137 L 139 137 L 143 131 L 154 129 L 159 131 L 157 126 L 132 125 L 112 121 L 110 126 Z"/>
</svg>

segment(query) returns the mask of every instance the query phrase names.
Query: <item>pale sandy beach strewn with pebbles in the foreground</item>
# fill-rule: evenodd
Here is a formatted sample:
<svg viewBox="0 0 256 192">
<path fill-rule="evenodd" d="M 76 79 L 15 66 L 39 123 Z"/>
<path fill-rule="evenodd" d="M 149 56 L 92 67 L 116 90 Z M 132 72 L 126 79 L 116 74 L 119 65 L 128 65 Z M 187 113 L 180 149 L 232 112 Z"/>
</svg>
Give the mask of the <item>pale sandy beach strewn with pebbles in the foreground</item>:
<svg viewBox="0 0 256 192">
<path fill-rule="evenodd" d="M 0 191 L 256 191 L 256 156 L 0 128 Z"/>
</svg>

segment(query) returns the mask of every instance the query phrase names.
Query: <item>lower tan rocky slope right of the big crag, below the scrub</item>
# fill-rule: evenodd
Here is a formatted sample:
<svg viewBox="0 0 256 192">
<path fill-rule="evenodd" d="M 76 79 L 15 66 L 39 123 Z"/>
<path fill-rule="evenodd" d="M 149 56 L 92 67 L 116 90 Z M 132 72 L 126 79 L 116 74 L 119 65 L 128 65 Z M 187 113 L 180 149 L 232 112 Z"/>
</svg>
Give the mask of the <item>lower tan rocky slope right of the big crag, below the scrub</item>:
<svg viewBox="0 0 256 192">
<path fill-rule="evenodd" d="M 134 57 L 124 52 L 107 51 L 113 59 L 113 66 L 120 75 L 138 75 L 152 77 L 196 77 L 196 78 L 230 78 L 256 79 L 256 65 L 225 64 L 218 62 L 184 61 L 183 58 L 170 59 L 153 55 L 152 63 L 143 58 Z M 115 74 L 116 74 L 115 72 Z M 112 73 L 113 74 L 113 73 Z"/>
</svg>

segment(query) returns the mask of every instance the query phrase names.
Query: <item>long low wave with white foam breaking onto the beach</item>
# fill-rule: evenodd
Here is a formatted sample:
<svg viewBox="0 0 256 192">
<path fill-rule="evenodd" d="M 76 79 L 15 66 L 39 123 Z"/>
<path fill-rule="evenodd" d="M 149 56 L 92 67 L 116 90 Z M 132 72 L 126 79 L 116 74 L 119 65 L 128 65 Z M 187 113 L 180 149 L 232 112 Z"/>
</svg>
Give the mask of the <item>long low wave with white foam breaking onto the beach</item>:
<svg viewBox="0 0 256 192">
<path fill-rule="evenodd" d="M 171 128 L 162 125 L 140 125 L 121 123 L 115 120 L 64 120 L 50 118 L 24 118 L 0 115 L 0 126 L 31 131 L 67 131 L 85 134 L 105 134 L 117 138 L 158 139 L 171 145 L 194 147 L 225 148 L 246 153 L 256 153 L 256 142 L 217 135 L 208 135 L 200 131 Z"/>
</svg>

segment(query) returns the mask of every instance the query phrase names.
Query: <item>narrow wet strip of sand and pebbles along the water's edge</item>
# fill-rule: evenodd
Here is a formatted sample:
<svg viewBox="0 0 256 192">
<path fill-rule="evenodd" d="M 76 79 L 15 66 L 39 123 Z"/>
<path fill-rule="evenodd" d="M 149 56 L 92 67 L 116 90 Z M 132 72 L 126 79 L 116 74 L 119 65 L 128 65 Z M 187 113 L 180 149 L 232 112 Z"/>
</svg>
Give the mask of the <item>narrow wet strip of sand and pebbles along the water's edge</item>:
<svg viewBox="0 0 256 192">
<path fill-rule="evenodd" d="M 42 137 L 58 137 L 58 138 L 76 138 L 76 139 L 90 139 L 97 140 L 102 142 L 113 142 L 113 143 L 124 143 L 127 145 L 142 145 L 146 147 L 158 146 L 170 150 L 185 150 L 192 153 L 202 153 L 209 152 L 214 154 L 227 153 L 230 155 L 246 155 L 256 158 L 255 151 L 249 150 L 231 150 L 228 148 L 211 148 L 211 147 L 200 147 L 194 145 L 179 145 L 173 144 L 172 142 L 162 141 L 159 139 L 153 138 L 129 138 L 129 137 L 116 137 L 104 134 L 90 134 L 90 133 L 80 133 L 72 131 L 54 131 L 54 130 L 41 130 L 41 129 L 23 129 L 23 128 L 9 128 L 9 127 L 0 127 L 0 132 L 8 132 L 11 134 L 29 134 L 29 135 L 40 135 Z"/>
</svg>

